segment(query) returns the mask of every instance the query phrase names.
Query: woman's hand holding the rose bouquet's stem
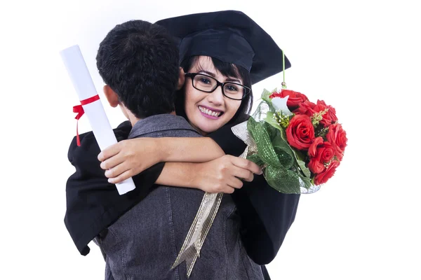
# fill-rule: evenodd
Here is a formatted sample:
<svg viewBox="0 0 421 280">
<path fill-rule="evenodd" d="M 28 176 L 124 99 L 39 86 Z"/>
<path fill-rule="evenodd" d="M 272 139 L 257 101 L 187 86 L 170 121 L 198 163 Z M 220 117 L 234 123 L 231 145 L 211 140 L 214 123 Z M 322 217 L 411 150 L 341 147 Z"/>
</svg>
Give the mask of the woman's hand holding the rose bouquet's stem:
<svg viewBox="0 0 421 280">
<path fill-rule="evenodd" d="M 253 174 L 262 174 L 254 162 L 232 155 L 224 155 L 210 162 L 196 164 L 194 185 L 208 193 L 234 193 L 243 182 L 253 181 Z"/>
</svg>

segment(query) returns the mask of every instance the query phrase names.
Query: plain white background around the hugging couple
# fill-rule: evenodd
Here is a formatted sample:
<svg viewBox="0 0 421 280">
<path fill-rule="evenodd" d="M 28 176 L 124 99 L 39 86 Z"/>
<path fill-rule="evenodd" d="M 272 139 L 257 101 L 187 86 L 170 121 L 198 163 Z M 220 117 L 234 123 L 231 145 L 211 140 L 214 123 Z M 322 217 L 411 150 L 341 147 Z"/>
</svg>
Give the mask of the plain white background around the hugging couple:
<svg viewBox="0 0 421 280">
<path fill-rule="evenodd" d="M 274 6 L 276 3 L 276 6 Z M 416 1 L 15 1 L 0 10 L 0 279 L 103 279 L 69 237 L 67 148 L 78 104 L 58 52 L 79 44 L 102 97 L 98 44 L 116 24 L 242 10 L 285 50 L 288 88 L 347 131 L 336 175 L 302 195 L 272 279 L 421 279 L 420 9 Z M 281 62 L 279 62 L 281 63 Z M 280 87 L 282 76 L 253 87 Z M 124 118 L 102 99 L 113 127 Z M 87 118 L 79 132 L 90 130 Z"/>
</svg>

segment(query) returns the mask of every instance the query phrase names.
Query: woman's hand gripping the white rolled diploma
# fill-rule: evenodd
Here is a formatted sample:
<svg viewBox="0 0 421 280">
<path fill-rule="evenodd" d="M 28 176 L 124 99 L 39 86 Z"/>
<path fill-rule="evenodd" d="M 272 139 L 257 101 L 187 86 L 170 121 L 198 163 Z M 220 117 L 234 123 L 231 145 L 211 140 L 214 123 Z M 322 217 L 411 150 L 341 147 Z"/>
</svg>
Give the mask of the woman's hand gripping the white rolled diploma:
<svg viewBox="0 0 421 280">
<path fill-rule="evenodd" d="M 152 167 L 161 159 L 156 138 L 135 138 L 109 146 L 98 155 L 109 183 L 120 183 Z"/>
</svg>

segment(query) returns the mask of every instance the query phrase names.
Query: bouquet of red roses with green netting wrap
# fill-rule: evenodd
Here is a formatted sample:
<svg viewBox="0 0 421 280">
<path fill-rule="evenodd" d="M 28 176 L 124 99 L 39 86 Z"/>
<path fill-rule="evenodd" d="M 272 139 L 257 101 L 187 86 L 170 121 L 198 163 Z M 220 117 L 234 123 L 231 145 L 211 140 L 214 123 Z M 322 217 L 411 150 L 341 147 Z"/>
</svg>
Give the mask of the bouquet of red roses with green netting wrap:
<svg viewBox="0 0 421 280">
<path fill-rule="evenodd" d="M 333 106 L 286 89 L 264 90 L 253 116 L 232 130 L 248 144 L 243 155 L 264 167 L 267 183 L 281 193 L 319 190 L 335 174 L 347 146 Z"/>
</svg>

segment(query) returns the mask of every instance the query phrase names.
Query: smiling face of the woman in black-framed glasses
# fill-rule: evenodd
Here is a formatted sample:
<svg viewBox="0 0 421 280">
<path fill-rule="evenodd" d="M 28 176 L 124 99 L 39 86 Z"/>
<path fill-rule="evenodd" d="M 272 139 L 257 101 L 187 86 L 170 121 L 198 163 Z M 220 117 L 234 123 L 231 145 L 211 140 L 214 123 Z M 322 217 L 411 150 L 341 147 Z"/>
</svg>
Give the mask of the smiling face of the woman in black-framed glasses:
<svg viewBox="0 0 421 280">
<path fill-rule="evenodd" d="M 201 56 L 189 69 L 189 73 L 203 73 L 219 80 L 220 83 L 233 82 L 243 85 L 243 80 L 236 77 L 223 76 L 210 57 Z M 192 78 L 185 80 L 185 113 L 189 123 L 202 135 L 218 130 L 234 117 L 241 105 L 241 100 L 233 100 L 222 94 L 222 87 L 218 86 L 213 92 L 196 90 L 192 85 Z"/>
</svg>

